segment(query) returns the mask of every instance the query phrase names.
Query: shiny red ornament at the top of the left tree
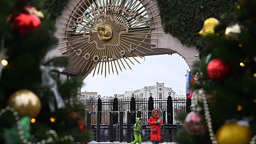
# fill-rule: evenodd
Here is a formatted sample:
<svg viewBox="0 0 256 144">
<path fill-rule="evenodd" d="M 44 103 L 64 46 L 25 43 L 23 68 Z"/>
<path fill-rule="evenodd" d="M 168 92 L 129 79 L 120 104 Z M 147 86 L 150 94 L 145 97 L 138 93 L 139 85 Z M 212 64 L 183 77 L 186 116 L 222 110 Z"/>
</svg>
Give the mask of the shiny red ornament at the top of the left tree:
<svg viewBox="0 0 256 144">
<path fill-rule="evenodd" d="M 35 30 L 40 25 L 41 21 L 35 14 L 20 13 L 12 21 L 12 28 L 20 34 L 26 33 L 28 30 Z"/>
</svg>

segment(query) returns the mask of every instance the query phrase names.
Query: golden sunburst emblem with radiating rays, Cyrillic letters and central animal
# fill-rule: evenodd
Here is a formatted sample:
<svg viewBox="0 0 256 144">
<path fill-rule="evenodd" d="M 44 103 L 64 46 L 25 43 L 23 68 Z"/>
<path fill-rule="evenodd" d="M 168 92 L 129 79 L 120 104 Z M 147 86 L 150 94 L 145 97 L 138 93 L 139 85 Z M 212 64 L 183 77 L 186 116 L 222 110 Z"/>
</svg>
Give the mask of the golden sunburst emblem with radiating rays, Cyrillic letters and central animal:
<svg viewBox="0 0 256 144">
<path fill-rule="evenodd" d="M 66 8 L 71 10 L 67 17 L 63 17 L 66 28 L 63 29 L 62 54 L 68 56 L 72 63 L 72 70 L 79 75 L 93 72 L 93 75 L 105 71 L 118 74 L 118 68 L 126 69 L 130 58 L 140 63 L 135 57 L 145 56 L 152 51 L 151 30 L 162 28 L 154 26 L 154 11 L 144 0 L 80 0 L 69 1 Z M 72 8 L 72 7 L 73 8 Z M 63 46 L 65 45 L 65 46 Z M 71 70 L 70 70 L 71 71 Z"/>
</svg>

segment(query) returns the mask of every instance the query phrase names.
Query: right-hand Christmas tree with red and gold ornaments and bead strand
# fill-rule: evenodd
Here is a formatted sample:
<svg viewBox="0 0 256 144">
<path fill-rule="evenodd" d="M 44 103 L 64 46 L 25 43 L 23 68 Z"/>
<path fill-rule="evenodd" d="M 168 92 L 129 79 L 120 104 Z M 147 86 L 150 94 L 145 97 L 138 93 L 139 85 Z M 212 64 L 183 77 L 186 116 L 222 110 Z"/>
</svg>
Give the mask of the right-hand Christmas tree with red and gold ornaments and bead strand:
<svg viewBox="0 0 256 144">
<path fill-rule="evenodd" d="M 199 34 L 204 57 L 193 65 L 192 112 L 179 144 L 256 143 L 256 0 L 209 18 Z"/>
</svg>

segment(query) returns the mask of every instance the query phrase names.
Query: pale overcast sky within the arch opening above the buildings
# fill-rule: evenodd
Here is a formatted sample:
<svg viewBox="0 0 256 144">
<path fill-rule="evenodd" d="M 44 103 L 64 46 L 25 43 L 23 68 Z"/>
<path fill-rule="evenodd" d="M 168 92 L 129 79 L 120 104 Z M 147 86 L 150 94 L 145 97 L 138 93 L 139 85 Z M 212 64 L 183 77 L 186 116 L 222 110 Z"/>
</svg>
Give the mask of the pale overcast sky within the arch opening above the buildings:
<svg viewBox="0 0 256 144">
<path fill-rule="evenodd" d="M 135 91 L 144 86 L 154 86 L 156 82 L 164 83 L 165 87 L 172 88 L 177 95 L 186 95 L 186 70 L 189 66 L 178 54 L 145 56 L 145 60 L 137 58 L 129 63 L 132 70 L 126 66 L 119 75 L 114 72 L 102 75 L 95 72 L 89 74 L 83 81 L 81 92 L 98 92 L 101 96 L 114 96 L 124 94 L 126 91 Z"/>
</svg>

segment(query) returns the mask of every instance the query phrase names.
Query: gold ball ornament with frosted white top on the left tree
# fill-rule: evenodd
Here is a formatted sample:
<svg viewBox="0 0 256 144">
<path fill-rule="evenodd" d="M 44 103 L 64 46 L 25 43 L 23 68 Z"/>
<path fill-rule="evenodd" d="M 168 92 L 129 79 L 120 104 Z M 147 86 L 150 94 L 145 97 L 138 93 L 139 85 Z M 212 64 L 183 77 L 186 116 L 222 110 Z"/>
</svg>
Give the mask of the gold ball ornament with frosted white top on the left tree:
<svg viewBox="0 0 256 144">
<path fill-rule="evenodd" d="M 20 117 L 30 116 L 36 118 L 41 110 L 41 101 L 35 93 L 27 89 L 21 89 L 12 93 L 7 105 L 13 107 Z"/>
</svg>

